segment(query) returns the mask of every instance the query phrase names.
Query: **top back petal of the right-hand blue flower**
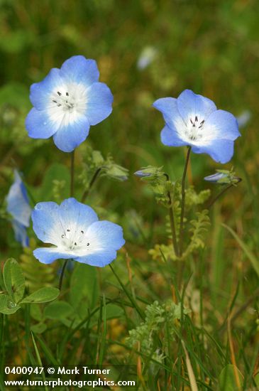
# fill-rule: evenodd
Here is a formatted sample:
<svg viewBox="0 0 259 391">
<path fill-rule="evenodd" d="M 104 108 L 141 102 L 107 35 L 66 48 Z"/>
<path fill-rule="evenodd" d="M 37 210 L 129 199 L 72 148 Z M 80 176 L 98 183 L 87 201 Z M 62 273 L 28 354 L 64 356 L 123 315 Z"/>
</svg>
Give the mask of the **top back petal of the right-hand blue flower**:
<svg viewBox="0 0 259 391">
<path fill-rule="evenodd" d="M 196 115 L 206 119 L 216 110 L 216 105 L 212 100 L 202 95 L 194 94 L 191 90 L 184 90 L 177 98 L 177 108 L 187 124 L 187 120 L 190 117 L 195 118 Z"/>
</svg>

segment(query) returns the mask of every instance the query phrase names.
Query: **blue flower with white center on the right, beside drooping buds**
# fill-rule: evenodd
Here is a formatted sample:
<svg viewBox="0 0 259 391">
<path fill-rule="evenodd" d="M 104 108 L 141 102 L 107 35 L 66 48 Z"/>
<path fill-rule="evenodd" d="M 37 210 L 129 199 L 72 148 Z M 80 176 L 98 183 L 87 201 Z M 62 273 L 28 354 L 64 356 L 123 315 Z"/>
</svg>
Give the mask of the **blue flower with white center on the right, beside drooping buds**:
<svg viewBox="0 0 259 391">
<path fill-rule="evenodd" d="M 184 90 L 177 99 L 161 98 L 153 106 L 165 119 L 162 144 L 192 146 L 195 154 L 209 154 L 220 163 L 227 163 L 233 156 L 233 141 L 241 136 L 236 118 L 218 110 L 208 98 Z"/>
</svg>

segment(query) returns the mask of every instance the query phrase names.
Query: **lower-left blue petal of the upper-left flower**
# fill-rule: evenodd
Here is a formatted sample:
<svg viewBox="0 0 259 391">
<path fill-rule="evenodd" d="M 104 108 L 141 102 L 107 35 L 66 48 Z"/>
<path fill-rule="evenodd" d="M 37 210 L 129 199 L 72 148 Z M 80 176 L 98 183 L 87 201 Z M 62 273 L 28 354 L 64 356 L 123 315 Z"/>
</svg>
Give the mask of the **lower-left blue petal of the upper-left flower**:
<svg viewBox="0 0 259 391">
<path fill-rule="evenodd" d="M 48 139 L 57 132 L 57 122 L 48 117 L 45 110 L 37 110 L 33 107 L 26 117 L 26 129 L 32 139 Z"/>
</svg>

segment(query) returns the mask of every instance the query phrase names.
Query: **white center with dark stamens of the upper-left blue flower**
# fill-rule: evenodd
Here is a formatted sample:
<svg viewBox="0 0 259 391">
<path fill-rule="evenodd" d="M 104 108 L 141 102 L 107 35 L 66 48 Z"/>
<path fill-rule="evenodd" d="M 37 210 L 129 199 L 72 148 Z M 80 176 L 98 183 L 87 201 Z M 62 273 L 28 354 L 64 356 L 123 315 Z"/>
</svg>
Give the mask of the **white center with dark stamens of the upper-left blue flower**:
<svg viewBox="0 0 259 391">
<path fill-rule="evenodd" d="M 87 107 L 87 88 L 75 82 L 55 87 L 49 97 L 48 115 L 60 127 L 82 117 Z"/>
</svg>

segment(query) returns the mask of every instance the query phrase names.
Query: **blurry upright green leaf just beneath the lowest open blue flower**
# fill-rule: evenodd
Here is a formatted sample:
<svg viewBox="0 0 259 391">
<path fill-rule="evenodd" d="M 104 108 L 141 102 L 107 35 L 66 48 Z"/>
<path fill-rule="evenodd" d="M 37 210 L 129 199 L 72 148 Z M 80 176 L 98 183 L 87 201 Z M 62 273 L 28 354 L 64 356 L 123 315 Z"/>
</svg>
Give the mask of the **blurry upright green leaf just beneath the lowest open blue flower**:
<svg viewBox="0 0 259 391">
<path fill-rule="evenodd" d="M 99 297 L 97 269 L 88 264 L 76 264 L 70 282 L 70 303 L 85 316 L 88 308 L 93 308 Z"/>
</svg>

